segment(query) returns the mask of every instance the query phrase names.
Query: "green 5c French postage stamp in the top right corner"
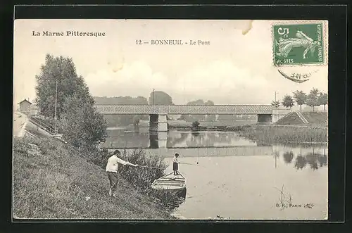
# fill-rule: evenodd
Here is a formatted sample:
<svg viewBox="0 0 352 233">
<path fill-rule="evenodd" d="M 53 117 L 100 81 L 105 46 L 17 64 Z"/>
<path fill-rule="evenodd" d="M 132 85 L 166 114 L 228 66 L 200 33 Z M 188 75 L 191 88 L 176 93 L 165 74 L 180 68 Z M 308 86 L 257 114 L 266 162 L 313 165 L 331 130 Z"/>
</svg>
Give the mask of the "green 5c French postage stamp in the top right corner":
<svg viewBox="0 0 352 233">
<path fill-rule="evenodd" d="M 323 23 L 272 25 L 274 65 L 325 63 Z"/>
</svg>

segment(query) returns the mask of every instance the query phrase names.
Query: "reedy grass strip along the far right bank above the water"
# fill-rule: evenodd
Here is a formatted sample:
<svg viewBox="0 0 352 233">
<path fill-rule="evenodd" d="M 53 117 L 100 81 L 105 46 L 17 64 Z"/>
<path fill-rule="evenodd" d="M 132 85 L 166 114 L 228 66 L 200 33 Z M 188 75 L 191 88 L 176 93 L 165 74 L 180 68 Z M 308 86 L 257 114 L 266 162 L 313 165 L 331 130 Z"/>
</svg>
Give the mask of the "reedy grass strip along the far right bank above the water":
<svg viewBox="0 0 352 233">
<path fill-rule="evenodd" d="M 289 125 L 244 125 L 229 127 L 228 130 L 239 132 L 246 137 L 260 143 L 296 142 L 296 143 L 325 143 L 327 142 L 327 127 L 299 127 Z"/>
</svg>

